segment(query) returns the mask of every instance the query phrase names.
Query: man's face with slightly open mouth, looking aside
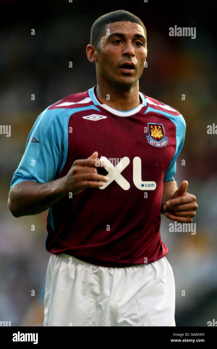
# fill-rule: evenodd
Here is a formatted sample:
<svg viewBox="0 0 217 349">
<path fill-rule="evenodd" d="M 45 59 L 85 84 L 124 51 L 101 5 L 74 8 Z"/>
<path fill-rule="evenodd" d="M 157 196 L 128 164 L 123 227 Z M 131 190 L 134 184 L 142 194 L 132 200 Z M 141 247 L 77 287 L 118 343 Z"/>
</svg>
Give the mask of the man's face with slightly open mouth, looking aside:
<svg viewBox="0 0 217 349">
<path fill-rule="evenodd" d="M 144 29 L 125 21 L 107 24 L 96 54 L 98 76 L 121 86 L 132 86 L 142 75 L 147 57 Z"/>
</svg>

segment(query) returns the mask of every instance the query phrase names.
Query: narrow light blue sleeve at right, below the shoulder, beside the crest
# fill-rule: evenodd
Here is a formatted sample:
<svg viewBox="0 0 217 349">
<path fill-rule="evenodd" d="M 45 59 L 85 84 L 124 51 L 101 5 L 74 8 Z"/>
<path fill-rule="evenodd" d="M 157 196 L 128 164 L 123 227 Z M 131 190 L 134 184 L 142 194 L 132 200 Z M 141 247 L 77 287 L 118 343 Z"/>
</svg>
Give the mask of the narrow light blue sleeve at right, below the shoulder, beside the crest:
<svg viewBox="0 0 217 349">
<path fill-rule="evenodd" d="M 176 121 L 173 121 L 176 125 L 176 151 L 172 157 L 170 165 L 165 172 L 163 181 L 174 180 L 173 176 L 176 174 L 176 160 L 181 153 L 185 140 L 186 123 L 182 115 L 178 116 Z"/>
</svg>

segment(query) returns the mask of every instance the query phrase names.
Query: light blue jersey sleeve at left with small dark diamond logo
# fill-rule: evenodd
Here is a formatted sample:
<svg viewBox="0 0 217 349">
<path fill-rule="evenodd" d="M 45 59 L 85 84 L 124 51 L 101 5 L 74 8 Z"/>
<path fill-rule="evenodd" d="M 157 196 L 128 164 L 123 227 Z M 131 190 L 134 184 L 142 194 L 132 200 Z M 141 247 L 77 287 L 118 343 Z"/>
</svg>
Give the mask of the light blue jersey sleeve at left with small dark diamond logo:
<svg viewBox="0 0 217 349">
<path fill-rule="evenodd" d="M 55 179 L 60 170 L 63 157 L 63 112 L 47 109 L 38 116 L 30 131 L 10 188 L 24 180 L 49 182 Z"/>
</svg>

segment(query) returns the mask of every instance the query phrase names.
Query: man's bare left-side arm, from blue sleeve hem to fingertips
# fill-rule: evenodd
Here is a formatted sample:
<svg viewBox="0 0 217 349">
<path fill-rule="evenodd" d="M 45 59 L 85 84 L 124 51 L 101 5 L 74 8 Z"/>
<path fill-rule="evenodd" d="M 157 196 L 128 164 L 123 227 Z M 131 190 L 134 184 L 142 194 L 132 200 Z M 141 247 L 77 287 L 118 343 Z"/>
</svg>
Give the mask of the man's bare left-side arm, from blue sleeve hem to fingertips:
<svg viewBox="0 0 217 349">
<path fill-rule="evenodd" d="M 64 196 L 78 194 L 85 188 L 98 188 L 108 177 L 97 173 L 95 168 L 97 152 L 87 159 L 74 161 L 66 176 L 47 183 L 37 183 L 25 180 L 9 192 L 8 208 L 14 217 L 35 215 L 41 213 L 61 200 Z M 98 167 L 104 165 L 98 164 Z"/>
</svg>

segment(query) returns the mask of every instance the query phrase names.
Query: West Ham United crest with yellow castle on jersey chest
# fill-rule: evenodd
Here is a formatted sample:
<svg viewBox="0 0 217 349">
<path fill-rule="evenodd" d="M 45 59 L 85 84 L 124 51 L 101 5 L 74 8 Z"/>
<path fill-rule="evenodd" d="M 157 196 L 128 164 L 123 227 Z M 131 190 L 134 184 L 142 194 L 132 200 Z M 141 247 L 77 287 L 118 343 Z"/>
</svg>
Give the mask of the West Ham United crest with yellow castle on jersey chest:
<svg viewBox="0 0 217 349">
<path fill-rule="evenodd" d="M 146 138 L 148 143 L 155 147 L 164 147 L 168 143 L 162 124 L 148 122 L 148 136 Z"/>
</svg>

